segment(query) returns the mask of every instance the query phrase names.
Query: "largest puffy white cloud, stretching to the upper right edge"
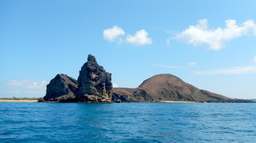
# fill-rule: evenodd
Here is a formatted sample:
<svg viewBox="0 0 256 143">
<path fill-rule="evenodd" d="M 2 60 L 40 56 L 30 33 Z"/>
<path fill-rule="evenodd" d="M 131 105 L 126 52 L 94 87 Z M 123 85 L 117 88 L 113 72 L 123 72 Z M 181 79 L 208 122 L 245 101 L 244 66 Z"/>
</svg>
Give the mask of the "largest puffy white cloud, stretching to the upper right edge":
<svg viewBox="0 0 256 143">
<path fill-rule="evenodd" d="M 207 19 L 198 20 L 198 24 L 190 25 L 188 29 L 176 34 L 173 38 L 167 39 L 169 44 L 170 39 L 179 39 L 186 41 L 193 46 L 209 45 L 208 49 L 220 50 L 225 47 L 229 40 L 243 36 L 255 35 L 256 24 L 249 19 L 242 24 L 236 24 L 236 20 L 225 20 L 226 26 L 224 29 L 218 27 L 216 29 L 208 29 Z"/>
</svg>

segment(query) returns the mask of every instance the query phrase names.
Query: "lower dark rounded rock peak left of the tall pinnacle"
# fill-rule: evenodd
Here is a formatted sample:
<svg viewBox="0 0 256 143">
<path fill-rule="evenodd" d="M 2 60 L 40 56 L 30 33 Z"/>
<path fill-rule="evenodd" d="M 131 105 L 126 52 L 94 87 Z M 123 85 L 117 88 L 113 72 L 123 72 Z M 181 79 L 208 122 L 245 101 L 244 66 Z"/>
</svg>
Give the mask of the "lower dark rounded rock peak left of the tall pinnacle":
<svg viewBox="0 0 256 143">
<path fill-rule="evenodd" d="M 45 101 L 74 102 L 75 93 L 78 89 L 78 83 L 75 79 L 65 75 L 58 74 L 46 86 Z"/>
</svg>

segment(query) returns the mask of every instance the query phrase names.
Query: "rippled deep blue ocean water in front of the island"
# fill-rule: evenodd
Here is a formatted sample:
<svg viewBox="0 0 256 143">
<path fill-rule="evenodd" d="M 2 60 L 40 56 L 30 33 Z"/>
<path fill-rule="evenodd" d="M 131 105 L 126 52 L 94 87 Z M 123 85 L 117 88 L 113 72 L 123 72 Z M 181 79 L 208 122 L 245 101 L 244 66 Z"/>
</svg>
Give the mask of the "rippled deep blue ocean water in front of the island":
<svg viewBox="0 0 256 143">
<path fill-rule="evenodd" d="M 254 103 L 0 102 L 1 143 L 256 142 Z"/>
</svg>

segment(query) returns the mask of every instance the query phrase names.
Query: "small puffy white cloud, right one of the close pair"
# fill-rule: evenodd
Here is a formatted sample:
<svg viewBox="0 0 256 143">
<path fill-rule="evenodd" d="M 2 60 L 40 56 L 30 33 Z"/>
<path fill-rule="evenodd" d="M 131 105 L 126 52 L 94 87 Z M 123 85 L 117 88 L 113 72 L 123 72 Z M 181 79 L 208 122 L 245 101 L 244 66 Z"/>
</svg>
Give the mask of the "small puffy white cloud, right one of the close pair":
<svg viewBox="0 0 256 143">
<path fill-rule="evenodd" d="M 131 43 L 134 46 L 150 45 L 152 44 L 151 38 L 148 38 L 148 32 L 144 29 L 137 31 L 134 36 L 127 35 L 126 42 Z"/>
</svg>

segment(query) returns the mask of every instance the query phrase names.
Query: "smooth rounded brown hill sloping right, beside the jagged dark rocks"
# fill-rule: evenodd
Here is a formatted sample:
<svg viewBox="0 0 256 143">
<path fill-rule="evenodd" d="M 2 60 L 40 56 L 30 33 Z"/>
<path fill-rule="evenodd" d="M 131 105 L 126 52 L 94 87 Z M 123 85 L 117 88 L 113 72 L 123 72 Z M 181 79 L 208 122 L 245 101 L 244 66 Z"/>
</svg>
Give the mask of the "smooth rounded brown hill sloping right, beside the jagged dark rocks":
<svg viewBox="0 0 256 143">
<path fill-rule="evenodd" d="M 113 92 L 112 100 L 120 102 L 237 102 L 236 99 L 198 89 L 171 74 L 155 75 L 145 80 L 138 88 L 114 88 Z"/>
</svg>

